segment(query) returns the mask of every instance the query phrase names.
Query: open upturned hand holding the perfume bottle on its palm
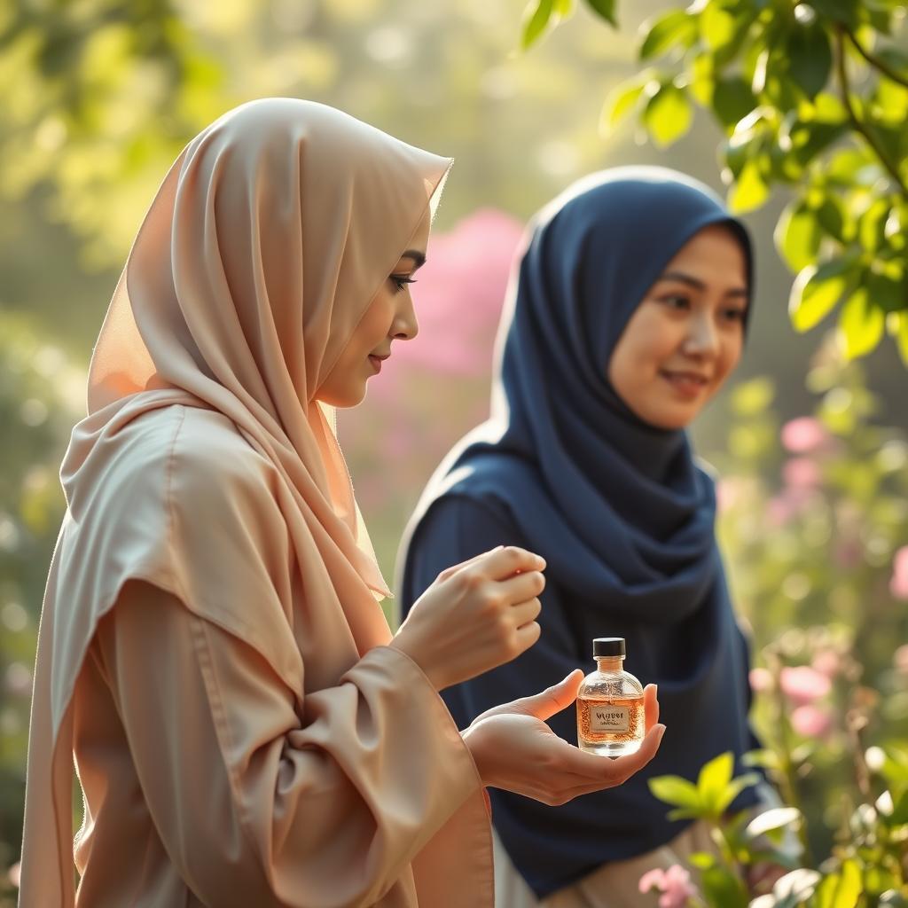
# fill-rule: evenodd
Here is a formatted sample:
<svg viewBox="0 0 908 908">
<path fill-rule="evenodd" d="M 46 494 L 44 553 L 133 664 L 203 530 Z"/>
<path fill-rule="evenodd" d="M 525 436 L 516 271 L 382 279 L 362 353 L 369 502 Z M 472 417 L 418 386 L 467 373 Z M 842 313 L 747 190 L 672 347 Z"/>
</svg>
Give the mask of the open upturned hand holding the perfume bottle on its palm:
<svg viewBox="0 0 908 908">
<path fill-rule="evenodd" d="M 574 703 L 582 681 L 583 672 L 577 669 L 560 684 L 476 718 L 463 739 L 484 785 L 556 806 L 577 795 L 621 785 L 649 763 L 666 730 L 657 724 L 655 685 L 644 691 L 646 737 L 636 754 L 616 760 L 585 754 L 546 725 L 546 719 Z"/>
</svg>

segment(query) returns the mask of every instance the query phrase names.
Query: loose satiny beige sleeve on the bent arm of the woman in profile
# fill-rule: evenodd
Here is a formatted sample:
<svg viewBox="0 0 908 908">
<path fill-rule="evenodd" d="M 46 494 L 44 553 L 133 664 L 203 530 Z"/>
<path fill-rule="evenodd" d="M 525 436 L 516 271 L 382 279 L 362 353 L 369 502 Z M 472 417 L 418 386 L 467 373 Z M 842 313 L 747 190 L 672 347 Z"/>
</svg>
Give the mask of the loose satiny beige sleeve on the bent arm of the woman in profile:
<svg viewBox="0 0 908 908">
<path fill-rule="evenodd" d="M 371 905 L 480 785 L 396 649 L 311 694 L 301 725 L 262 656 L 147 583 L 123 588 L 97 644 L 153 823 L 203 903 Z"/>
</svg>

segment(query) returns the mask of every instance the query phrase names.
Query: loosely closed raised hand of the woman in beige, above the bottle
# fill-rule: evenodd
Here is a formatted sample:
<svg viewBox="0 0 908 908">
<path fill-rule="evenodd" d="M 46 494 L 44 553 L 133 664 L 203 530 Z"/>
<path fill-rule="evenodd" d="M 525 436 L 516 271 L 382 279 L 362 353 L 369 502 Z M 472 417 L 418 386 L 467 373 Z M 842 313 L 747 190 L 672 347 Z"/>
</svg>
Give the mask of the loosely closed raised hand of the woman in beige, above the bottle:
<svg viewBox="0 0 908 908">
<path fill-rule="evenodd" d="M 436 690 L 509 662 L 539 638 L 539 594 L 546 562 L 505 546 L 439 574 L 390 642 Z"/>
</svg>

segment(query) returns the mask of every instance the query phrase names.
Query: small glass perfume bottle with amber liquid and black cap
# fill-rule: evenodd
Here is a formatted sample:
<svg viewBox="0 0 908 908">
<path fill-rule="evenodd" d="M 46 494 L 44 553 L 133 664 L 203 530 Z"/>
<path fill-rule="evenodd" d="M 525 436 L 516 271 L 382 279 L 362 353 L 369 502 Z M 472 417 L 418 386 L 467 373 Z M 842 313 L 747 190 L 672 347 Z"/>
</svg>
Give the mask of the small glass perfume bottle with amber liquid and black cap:
<svg viewBox="0 0 908 908">
<path fill-rule="evenodd" d="M 646 709 L 643 686 L 622 667 L 624 637 L 597 637 L 593 656 L 597 669 L 577 692 L 577 744 L 612 759 L 633 754 L 646 731 Z"/>
</svg>

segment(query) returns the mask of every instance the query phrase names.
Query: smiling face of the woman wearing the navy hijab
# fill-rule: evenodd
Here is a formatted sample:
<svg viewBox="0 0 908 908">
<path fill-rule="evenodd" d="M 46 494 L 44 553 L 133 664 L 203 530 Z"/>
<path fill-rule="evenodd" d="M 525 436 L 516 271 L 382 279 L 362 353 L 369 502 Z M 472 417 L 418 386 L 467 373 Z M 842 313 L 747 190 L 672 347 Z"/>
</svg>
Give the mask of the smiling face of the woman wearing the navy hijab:
<svg viewBox="0 0 908 908">
<path fill-rule="evenodd" d="M 608 363 L 618 395 L 645 422 L 682 429 L 741 356 L 745 253 L 727 228 L 686 242 L 627 322 Z"/>
</svg>

